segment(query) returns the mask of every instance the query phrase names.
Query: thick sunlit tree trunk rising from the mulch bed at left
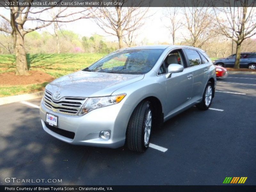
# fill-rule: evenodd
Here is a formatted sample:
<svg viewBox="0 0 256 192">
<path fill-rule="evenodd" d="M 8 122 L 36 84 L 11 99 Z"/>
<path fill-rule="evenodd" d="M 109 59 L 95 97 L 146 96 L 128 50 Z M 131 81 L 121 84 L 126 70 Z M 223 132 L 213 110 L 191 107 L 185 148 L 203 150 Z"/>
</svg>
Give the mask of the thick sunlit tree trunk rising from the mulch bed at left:
<svg viewBox="0 0 256 192">
<path fill-rule="evenodd" d="M 20 76 L 28 76 L 28 64 L 24 47 L 24 36 L 16 31 L 12 34 L 16 56 L 16 74 Z"/>
</svg>

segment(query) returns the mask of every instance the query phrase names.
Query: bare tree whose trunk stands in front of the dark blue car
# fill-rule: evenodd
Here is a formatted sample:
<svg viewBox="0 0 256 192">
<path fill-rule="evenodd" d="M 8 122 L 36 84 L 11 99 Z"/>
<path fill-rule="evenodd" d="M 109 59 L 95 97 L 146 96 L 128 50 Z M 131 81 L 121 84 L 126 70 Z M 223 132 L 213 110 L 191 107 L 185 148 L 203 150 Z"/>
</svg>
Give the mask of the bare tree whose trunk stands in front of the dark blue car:
<svg viewBox="0 0 256 192">
<path fill-rule="evenodd" d="M 237 69 L 239 69 L 241 44 L 245 39 L 256 34 L 255 2 L 255 0 L 240 0 L 234 3 L 240 3 L 242 7 L 234 7 L 235 4 L 231 5 L 233 1 L 229 1 L 229 7 L 214 8 L 216 23 L 220 28 L 219 33 L 236 43 L 234 68 Z"/>
</svg>

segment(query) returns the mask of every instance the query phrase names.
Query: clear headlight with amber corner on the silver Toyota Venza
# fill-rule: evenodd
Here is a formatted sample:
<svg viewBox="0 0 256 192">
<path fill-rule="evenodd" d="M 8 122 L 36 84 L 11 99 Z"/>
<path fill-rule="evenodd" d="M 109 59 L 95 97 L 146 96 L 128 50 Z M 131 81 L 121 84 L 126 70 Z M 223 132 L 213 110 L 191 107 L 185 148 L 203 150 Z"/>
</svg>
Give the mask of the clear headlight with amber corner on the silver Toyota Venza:
<svg viewBox="0 0 256 192">
<path fill-rule="evenodd" d="M 79 115 L 84 115 L 89 113 L 93 109 L 106 107 L 109 105 L 114 105 L 119 103 L 124 99 L 126 93 L 122 93 L 119 95 L 107 96 L 107 97 L 92 97 L 88 98 L 84 103 L 84 106 L 81 108 Z"/>
</svg>

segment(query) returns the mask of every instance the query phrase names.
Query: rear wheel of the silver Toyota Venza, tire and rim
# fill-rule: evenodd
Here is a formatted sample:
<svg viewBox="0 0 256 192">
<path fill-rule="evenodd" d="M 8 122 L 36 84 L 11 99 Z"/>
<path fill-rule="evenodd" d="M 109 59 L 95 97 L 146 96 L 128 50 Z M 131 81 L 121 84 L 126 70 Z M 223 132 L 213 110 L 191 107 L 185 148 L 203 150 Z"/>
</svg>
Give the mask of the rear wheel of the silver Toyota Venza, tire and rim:
<svg viewBox="0 0 256 192">
<path fill-rule="evenodd" d="M 197 104 L 196 107 L 199 110 L 207 110 L 212 104 L 213 87 L 209 81 L 204 89 L 203 99 L 201 103 Z"/>
</svg>

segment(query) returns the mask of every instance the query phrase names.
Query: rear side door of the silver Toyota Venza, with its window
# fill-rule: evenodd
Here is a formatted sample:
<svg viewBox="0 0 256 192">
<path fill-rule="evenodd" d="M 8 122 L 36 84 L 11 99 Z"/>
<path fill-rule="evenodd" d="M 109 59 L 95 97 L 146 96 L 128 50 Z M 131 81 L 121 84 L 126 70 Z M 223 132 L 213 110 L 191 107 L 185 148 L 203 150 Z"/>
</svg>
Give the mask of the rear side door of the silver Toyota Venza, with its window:
<svg viewBox="0 0 256 192">
<path fill-rule="evenodd" d="M 184 52 L 188 58 L 188 68 L 193 71 L 193 90 L 191 93 L 191 100 L 195 102 L 201 99 L 203 95 L 206 83 L 209 79 L 210 63 L 202 53 L 195 49 L 185 48 Z"/>
</svg>

